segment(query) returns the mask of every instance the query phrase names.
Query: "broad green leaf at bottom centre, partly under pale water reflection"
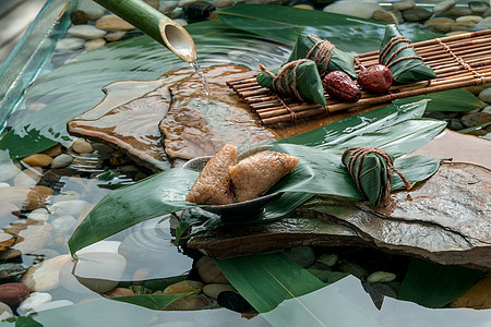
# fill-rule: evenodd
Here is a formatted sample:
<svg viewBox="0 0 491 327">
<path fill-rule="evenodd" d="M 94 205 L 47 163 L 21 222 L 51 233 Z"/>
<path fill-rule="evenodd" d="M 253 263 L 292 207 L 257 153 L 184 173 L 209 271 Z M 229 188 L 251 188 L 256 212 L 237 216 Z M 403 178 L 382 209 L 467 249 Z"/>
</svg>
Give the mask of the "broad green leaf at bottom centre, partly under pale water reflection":
<svg viewBox="0 0 491 327">
<path fill-rule="evenodd" d="M 239 293 L 273 326 L 379 325 L 334 289 L 323 293 L 322 303 L 302 298 L 325 284 L 283 254 L 217 259 L 217 264 Z M 278 306 L 288 299 L 291 306 Z"/>
</svg>

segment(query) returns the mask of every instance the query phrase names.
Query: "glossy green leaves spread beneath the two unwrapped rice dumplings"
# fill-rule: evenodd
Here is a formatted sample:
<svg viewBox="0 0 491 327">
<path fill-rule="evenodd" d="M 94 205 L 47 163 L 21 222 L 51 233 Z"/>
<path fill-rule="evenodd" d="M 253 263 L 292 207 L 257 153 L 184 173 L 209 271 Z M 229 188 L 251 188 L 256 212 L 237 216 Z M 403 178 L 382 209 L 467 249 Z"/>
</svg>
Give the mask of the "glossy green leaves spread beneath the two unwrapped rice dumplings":
<svg viewBox="0 0 491 327">
<path fill-rule="evenodd" d="M 299 140 L 302 140 L 299 137 L 289 138 L 292 144 L 278 142 L 274 149 L 298 157 L 300 164 L 274 187 L 276 191 L 292 194 L 286 194 L 270 204 L 261 218 L 275 219 L 286 215 L 313 194 L 362 198 L 340 164 L 342 153 L 346 147 L 372 145 L 399 157 L 422 146 L 445 125 L 435 120 L 409 119 L 420 117 L 424 112 L 424 104 L 421 101 L 404 108 L 391 105 L 388 109 L 380 108 L 359 114 L 356 119 L 350 117 L 335 122 L 333 133 L 336 133 L 336 130 L 344 133 L 339 132 L 337 137 L 330 138 L 326 136 L 330 133 L 328 128 L 322 128 L 318 132 L 311 132 L 313 138 L 308 146 L 299 145 Z M 364 119 L 366 114 L 371 119 Z M 387 126 L 388 122 L 393 125 Z M 331 145 L 324 146 L 323 142 Z M 312 150 L 312 145 L 315 150 Z M 436 171 L 439 162 L 439 159 L 416 156 L 398 159 L 395 165 L 409 181 L 421 181 Z M 69 240 L 71 253 L 137 222 L 196 207 L 184 201 L 196 177 L 195 171 L 171 169 L 111 192 L 74 231 Z M 394 177 L 393 190 L 400 186 L 400 179 Z M 189 222 L 191 223 L 192 219 Z M 182 233 L 185 229 L 187 226 L 183 226 L 179 232 Z"/>
</svg>

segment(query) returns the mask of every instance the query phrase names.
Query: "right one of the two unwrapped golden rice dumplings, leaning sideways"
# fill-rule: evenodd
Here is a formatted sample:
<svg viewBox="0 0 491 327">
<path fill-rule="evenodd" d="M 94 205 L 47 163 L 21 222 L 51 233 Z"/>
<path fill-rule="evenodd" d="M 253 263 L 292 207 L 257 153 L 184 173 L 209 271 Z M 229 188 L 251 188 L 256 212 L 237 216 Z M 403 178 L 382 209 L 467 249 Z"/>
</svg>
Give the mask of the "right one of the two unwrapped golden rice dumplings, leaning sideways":
<svg viewBox="0 0 491 327">
<path fill-rule="evenodd" d="M 270 190 L 294 170 L 298 159 L 287 154 L 262 152 L 229 168 L 237 202 L 249 201 Z"/>
</svg>

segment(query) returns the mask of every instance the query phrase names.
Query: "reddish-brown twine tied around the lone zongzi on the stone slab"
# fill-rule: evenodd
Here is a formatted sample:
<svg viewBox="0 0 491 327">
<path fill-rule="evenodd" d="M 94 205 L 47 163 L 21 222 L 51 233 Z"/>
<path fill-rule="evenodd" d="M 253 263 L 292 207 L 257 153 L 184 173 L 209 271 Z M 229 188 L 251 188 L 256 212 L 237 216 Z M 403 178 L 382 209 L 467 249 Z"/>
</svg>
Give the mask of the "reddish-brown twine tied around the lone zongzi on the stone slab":
<svg viewBox="0 0 491 327">
<path fill-rule="evenodd" d="M 355 183 L 357 184 L 358 190 L 361 193 L 364 193 L 361 189 L 361 182 L 360 182 L 360 173 L 361 173 L 361 166 L 363 165 L 363 159 L 369 154 L 376 154 L 380 155 L 386 164 L 387 167 L 387 184 L 385 185 L 385 189 L 383 190 L 382 198 L 383 198 L 383 205 L 387 206 L 388 202 L 391 201 L 391 182 L 392 182 L 392 173 L 397 173 L 400 179 L 403 180 L 404 184 L 406 185 L 406 190 L 411 190 L 414 184 L 409 183 L 409 181 L 403 175 L 400 171 L 398 171 L 394 167 L 394 160 L 392 159 L 391 155 L 388 155 L 383 149 L 380 149 L 378 147 L 369 147 L 369 146 L 357 146 L 357 147 L 350 147 L 347 148 L 342 156 L 343 164 L 345 162 L 345 158 L 348 155 L 348 153 L 352 152 L 352 154 L 348 158 L 348 164 L 345 165 L 346 168 L 349 171 L 349 174 L 355 180 Z M 358 161 L 358 169 L 357 174 L 355 175 L 355 162 Z"/>
</svg>

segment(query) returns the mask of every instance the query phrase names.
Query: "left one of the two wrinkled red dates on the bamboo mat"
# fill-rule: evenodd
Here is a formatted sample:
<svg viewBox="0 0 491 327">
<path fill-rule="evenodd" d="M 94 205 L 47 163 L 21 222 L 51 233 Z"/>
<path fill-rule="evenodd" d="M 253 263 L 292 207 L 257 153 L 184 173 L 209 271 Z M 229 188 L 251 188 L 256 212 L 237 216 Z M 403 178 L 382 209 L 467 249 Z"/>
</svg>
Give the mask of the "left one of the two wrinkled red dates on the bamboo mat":
<svg viewBox="0 0 491 327">
<path fill-rule="evenodd" d="M 322 81 L 325 92 L 335 98 L 348 102 L 356 102 L 361 97 L 361 92 L 358 86 L 351 81 L 345 72 L 335 71 L 325 75 Z"/>
</svg>

